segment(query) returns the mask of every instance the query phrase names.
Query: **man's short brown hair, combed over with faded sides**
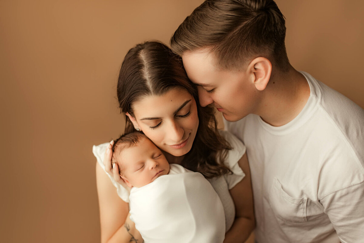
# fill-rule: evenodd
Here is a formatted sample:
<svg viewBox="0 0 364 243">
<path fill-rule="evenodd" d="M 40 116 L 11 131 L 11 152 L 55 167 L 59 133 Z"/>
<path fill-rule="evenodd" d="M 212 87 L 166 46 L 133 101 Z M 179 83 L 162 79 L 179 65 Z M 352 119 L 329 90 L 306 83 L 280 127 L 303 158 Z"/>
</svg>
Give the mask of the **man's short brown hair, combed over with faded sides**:
<svg viewBox="0 0 364 243">
<path fill-rule="evenodd" d="M 240 70 L 263 56 L 288 71 L 285 35 L 285 17 L 273 0 L 207 0 L 187 16 L 170 44 L 178 55 L 208 48 L 214 64 L 225 70 Z"/>
</svg>

